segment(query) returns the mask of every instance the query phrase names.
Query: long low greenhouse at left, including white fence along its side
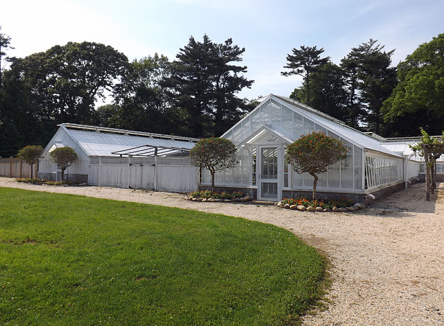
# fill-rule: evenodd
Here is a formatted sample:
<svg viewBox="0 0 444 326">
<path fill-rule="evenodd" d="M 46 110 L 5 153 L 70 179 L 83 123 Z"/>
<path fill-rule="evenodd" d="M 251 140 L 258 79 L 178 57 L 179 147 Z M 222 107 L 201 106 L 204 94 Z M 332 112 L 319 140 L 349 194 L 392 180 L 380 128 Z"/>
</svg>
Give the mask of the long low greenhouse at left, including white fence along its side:
<svg viewBox="0 0 444 326">
<path fill-rule="evenodd" d="M 60 181 L 61 170 L 49 157 L 69 146 L 78 160 L 65 180 L 119 188 L 191 192 L 198 188 L 198 170 L 189 150 L 198 139 L 64 123 L 44 149 L 38 176 Z"/>
</svg>

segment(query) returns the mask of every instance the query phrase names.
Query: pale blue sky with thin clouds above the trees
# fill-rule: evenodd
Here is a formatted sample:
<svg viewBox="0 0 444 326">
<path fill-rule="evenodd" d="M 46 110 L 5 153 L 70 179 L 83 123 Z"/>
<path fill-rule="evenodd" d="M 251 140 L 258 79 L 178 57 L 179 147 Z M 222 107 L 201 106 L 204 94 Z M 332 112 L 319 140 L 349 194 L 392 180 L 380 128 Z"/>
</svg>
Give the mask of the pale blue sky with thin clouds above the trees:
<svg viewBox="0 0 444 326">
<path fill-rule="evenodd" d="M 231 38 L 245 48 L 237 64 L 255 80 L 238 96 L 255 99 L 300 87 L 299 76 L 281 75 L 293 48 L 324 48 L 321 56 L 340 64 L 352 48 L 377 39 L 395 49 L 396 66 L 444 33 L 443 14 L 443 0 L 9 0 L 1 4 L 0 33 L 11 38 L 10 57 L 87 41 L 130 61 L 155 53 L 176 60 L 191 36 L 217 44 Z"/>
</svg>

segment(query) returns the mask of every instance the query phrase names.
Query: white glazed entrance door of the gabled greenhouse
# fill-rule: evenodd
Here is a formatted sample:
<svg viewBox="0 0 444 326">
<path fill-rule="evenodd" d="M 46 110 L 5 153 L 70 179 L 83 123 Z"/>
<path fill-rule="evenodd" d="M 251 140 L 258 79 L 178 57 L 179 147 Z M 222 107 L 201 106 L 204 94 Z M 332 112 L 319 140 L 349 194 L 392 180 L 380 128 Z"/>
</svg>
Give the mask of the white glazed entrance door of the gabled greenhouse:
<svg viewBox="0 0 444 326">
<path fill-rule="evenodd" d="M 280 199 L 280 157 L 278 147 L 259 146 L 259 175 L 257 197 L 259 200 Z"/>
</svg>

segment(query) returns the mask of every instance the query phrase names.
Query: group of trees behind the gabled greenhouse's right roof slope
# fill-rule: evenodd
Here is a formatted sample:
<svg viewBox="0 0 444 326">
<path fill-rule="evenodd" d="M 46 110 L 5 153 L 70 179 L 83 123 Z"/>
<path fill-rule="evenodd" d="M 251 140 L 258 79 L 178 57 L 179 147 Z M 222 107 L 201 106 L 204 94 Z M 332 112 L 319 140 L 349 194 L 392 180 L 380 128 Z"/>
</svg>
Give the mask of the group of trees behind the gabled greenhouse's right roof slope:
<svg viewBox="0 0 444 326">
<path fill-rule="evenodd" d="M 381 136 L 433 135 L 444 129 L 444 34 L 421 44 L 397 67 L 395 50 L 370 39 L 343 57 L 339 65 L 324 49 L 301 46 L 287 55 L 282 75 L 301 75 L 291 98 L 348 125 Z"/>
</svg>

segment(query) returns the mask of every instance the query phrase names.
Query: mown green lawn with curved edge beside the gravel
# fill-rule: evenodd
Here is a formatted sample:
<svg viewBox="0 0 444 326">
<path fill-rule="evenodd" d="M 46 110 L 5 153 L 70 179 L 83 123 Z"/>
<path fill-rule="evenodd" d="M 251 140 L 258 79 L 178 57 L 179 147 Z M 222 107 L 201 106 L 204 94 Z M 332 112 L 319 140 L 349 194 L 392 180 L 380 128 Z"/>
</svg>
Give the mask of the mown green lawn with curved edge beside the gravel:
<svg viewBox="0 0 444 326">
<path fill-rule="evenodd" d="M 293 325 L 324 268 L 268 224 L 0 188 L 1 325 Z"/>
</svg>

